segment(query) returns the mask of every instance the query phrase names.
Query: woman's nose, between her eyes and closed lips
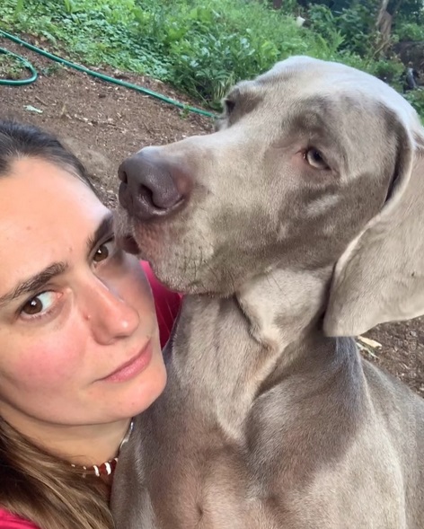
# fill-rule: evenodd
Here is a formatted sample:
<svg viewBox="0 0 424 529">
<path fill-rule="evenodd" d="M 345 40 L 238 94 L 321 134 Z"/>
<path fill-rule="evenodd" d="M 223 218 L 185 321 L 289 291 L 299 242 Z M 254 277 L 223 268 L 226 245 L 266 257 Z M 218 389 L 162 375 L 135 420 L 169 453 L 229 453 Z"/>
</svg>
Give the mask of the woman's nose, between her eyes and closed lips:
<svg viewBox="0 0 424 529">
<path fill-rule="evenodd" d="M 137 330 L 137 309 L 123 299 L 116 289 L 95 278 L 84 292 L 84 319 L 90 323 L 93 338 L 102 345 L 131 336 Z"/>
</svg>

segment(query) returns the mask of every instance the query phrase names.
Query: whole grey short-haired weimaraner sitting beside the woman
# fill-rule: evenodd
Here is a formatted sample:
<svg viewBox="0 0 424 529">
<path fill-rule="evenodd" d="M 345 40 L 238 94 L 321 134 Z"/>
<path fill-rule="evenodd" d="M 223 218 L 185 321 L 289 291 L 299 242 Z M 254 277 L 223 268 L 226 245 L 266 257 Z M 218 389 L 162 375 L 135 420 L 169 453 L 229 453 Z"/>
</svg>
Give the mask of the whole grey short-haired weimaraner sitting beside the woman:
<svg viewBox="0 0 424 529">
<path fill-rule="evenodd" d="M 345 338 L 424 313 L 423 154 L 388 85 L 292 57 L 121 165 L 119 238 L 185 298 L 118 529 L 424 528 L 424 400 Z"/>
</svg>

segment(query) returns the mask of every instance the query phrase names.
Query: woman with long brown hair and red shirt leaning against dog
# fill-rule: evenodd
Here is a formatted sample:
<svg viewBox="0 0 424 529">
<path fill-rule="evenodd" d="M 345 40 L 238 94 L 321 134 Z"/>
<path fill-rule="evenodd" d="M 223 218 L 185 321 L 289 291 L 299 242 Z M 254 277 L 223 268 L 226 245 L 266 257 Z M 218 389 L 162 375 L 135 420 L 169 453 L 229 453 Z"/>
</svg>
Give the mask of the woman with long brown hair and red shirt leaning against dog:
<svg viewBox="0 0 424 529">
<path fill-rule="evenodd" d="M 0 528 L 110 528 L 119 446 L 165 384 L 155 304 L 165 341 L 179 296 L 150 274 L 154 301 L 75 156 L 6 121 L 0 262 Z"/>
</svg>

